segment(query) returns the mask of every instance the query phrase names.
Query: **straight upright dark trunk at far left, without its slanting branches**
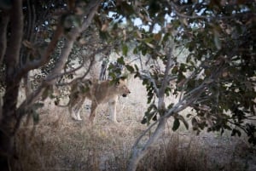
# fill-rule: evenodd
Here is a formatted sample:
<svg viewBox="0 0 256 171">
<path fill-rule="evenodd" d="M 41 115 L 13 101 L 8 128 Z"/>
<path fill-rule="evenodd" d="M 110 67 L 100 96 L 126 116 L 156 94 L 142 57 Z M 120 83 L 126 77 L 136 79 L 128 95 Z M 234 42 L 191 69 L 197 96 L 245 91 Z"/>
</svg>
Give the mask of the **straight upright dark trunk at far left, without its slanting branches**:
<svg viewBox="0 0 256 171">
<path fill-rule="evenodd" d="M 3 96 L 3 111 L 0 120 L 0 168 L 9 171 L 10 159 L 14 156 L 14 137 L 16 122 L 16 105 L 20 87 L 20 79 L 15 79 L 20 56 L 20 44 L 23 34 L 22 1 L 13 1 L 9 11 L 10 37 L 6 48 L 4 63 L 5 94 Z M 3 34 L 6 34 L 3 33 Z M 6 42 L 2 42 L 6 43 Z"/>
</svg>

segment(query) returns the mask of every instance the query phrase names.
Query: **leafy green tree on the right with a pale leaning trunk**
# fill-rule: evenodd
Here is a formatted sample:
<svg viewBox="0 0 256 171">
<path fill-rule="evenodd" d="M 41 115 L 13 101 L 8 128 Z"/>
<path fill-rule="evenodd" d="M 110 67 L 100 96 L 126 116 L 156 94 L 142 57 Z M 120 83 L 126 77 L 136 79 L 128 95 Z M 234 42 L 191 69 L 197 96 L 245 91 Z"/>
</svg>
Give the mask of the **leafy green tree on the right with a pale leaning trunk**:
<svg viewBox="0 0 256 171">
<path fill-rule="evenodd" d="M 180 123 L 188 128 L 190 120 L 198 133 L 203 129 L 221 134 L 230 130 L 232 136 L 245 133 L 255 145 L 256 4 L 151 1 L 144 5 L 138 5 L 148 10 L 137 10 L 144 26 L 137 30 L 134 52 L 159 60 L 164 67 L 154 63 L 148 71 L 134 69 L 148 91 L 142 123 L 149 127 L 133 145 L 128 169 L 136 170 L 171 117 L 173 131 Z M 166 104 L 166 95 L 172 93 L 177 94 L 177 103 Z M 186 119 L 180 111 L 188 107 L 192 112 Z M 152 128 L 152 136 L 142 142 Z"/>
</svg>

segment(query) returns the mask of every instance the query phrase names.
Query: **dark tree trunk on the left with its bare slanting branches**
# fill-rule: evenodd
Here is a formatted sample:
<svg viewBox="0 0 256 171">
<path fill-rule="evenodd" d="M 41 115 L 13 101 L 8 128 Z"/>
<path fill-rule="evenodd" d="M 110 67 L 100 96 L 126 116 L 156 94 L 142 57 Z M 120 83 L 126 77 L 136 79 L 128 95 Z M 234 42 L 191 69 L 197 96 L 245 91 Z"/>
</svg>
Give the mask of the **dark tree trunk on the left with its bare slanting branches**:
<svg viewBox="0 0 256 171">
<path fill-rule="evenodd" d="M 0 49 L 0 61 L 3 60 L 6 70 L 5 70 L 5 94 L 3 96 L 3 106 L 2 113 L 0 115 L 0 170 L 1 171 L 10 171 L 10 160 L 15 155 L 15 132 L 19 128 L 19 123 L 26 114 L 26 108 L 32 105 L 34 100 L 42 94 L 44 89 L 53 84 L 55 79 L 61 73 L 62 68 L 65 66 L 68 55 L 70 54 L 73 43 L 76 40 L 76 37 L 79 36 L 79 33 L 84 31 L 90 22 L 93 19 L 93 16 L 96 14 L 98 6 L 101 4 L 102 0 L 90 1 L 88 4 L 89 10 L 86 10 L 86 17 L 84 17 L 84 23 L 81 28 L 74 28 L 72 33 L 72 38 L 67 39 L 65 47 L 61 51 L 60 60 L 55 65 L 53 72 L 46 78 L 44 83 L 32 94 L 26 97 L 26 100 L 18 107 L 18 93 L 20 88 L 21 78 L 26 75 L 26 73 L 38 66 L 44 65 L 50 58 L 50 54 L 53 52 L 55 46 L 49 44 L 49 48 L 46 51 L 46 54 L 42 57 L 39 62 L 31 62 L 26 66 L 19 64 L 20 62 L 20 47 L 23 36 L 23 14 L 22 14 L 22 0 L 11 1 L 12 7 L 9 10 L 9 21 L 10 21 L 10 36 L 9 36 L 9 45 L 6 46 L 5 42 L 7 32 L 0 33 L 0 41 L 3 41 L 3 44 L 0 44 L 1 47 L 6 48 Z M 2 23 L 7 23 L 8 20 L 3 20 Z M 7 26 L 4 25 L 4 26 Z M 5 27 L 1 27 L 3 31 Z M 61 31 L 57 32 L 55 38 L 51 42 L 56 44 L 58 38 L 61 36 Z M 4 54 L 5 53 L 5 54 Z M 4 55 L 3 55 L 4 54 Z M 4 56 L 4 57 L 3 57 Z M 37 66 L 37 67 L 35 67 Z"/>
</svg>

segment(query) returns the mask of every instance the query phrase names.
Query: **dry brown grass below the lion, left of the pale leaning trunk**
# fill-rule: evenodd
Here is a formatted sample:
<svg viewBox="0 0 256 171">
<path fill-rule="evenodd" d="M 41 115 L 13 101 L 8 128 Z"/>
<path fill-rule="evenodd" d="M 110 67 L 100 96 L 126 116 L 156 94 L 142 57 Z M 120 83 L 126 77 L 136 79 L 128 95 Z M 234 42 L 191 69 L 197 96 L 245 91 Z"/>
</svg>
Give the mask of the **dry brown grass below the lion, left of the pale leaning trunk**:
<svg viewBox="0 0 256 171">
<path fill-rule="evenodd" d="M 90 127 L 86 120 L 74 122 L 66 113 L 51 115 L 43 112 L 36 127 L 30 123 L 20 128 L 14 170 L 125 170 L 132 140 L 143 130 L 134 123 L 126 128 L 106 118 Z"/>
</svg>

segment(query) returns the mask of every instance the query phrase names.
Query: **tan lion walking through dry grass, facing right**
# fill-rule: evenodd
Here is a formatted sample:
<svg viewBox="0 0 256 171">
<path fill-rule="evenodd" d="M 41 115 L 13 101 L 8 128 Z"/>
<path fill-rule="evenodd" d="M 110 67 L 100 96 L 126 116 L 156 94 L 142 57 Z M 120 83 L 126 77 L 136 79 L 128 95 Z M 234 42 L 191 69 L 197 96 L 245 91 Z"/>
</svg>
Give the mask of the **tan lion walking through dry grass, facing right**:
<svg viewBox="0 0 256 171">
<path fill-rule="evenodd" d="M 108 102 L 110 120 L 117 123 L 116 120 L 116 105 L 118 96 L 126 97 L 130 94 L 129 88 L 126 86 L 126 80 L 119 79 L 114 83 L 111 80 L 99 81 L 97 79 L 84 79 L 79 80 L 71 85 L 69 95 L 68 112 L 74 120 L 81 121 L 80 110 L 87 98 L 91 100 L 90 107 L 90 123 L 93 123 L 96 117 L 97 106 Z"/>
</svg>

